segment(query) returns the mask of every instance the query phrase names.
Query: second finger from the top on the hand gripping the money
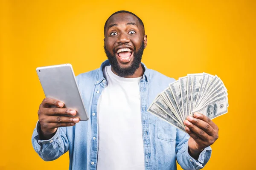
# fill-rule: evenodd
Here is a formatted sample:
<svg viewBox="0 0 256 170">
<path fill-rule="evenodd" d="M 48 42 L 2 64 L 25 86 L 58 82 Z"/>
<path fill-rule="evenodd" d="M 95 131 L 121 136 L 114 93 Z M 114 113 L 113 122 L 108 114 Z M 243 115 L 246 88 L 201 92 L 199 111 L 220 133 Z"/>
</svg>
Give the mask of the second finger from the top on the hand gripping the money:
<svg viewBox="0 0 256 170">
<path fill-rule="evenodd" d="M 204 130 L 210 136 L 212 136 L 215 133 L 212 126 L 209 125 L 209 123 L 204 122 L 203 120 L 194 118 L 192 116 L 188 116 L 187 120 L 192 124 L 196 125 L 197 127 L 199 127 L 200 129 Z"/>
</svg>

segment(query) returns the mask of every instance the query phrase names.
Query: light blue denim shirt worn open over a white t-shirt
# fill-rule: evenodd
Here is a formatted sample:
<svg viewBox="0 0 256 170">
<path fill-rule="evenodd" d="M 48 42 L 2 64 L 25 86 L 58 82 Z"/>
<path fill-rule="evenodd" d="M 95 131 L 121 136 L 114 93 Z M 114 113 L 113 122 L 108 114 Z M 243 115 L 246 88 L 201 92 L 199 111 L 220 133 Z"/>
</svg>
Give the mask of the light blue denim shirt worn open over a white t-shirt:
<svg viewBox="0 0 256 170">
<path fill-rule="evenodd" d="M 32 135 L 32 144 L 43 160 L 55 160 L 69 151 L 70 170 L 96 170 L 98 155 L 97 104 L 107 83 L 102 72 L 102 68 L 106 65 L 110 65 L 108 60 L 103 62 L 99 69 L 79 74 L 76 77 L 79 91 L 89 114 L 88 121 L 81 121 L 72 127 L 60 127 L 49 140 L 40 139 L 40 123 L 37 122 Z M 185 170 L 201 169 L 211 156 L 211 148 L 205 148 L 198 160 L 193 159 L 188 153 L 189 135 L 147 112 L 148 106 L 157 94 L 167 88 L 169 83 L 174 82 L 175 79 L 142 65 L 145 72 L 139 86 L 145 170 L 176 170 L 176 159 Z"/>
</svg>

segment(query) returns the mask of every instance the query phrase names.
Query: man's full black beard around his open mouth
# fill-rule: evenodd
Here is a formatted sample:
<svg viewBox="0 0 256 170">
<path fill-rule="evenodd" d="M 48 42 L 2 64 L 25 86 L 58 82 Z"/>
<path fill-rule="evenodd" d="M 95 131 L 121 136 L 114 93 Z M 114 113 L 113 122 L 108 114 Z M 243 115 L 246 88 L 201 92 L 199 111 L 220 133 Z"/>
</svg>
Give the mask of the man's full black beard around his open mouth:
<svg viewBox="0 0 256 170">
<path fill-rule="evenodd" d="M 104 50 L 111 64 L 111 67 L 113 68 L 113 71 L 115 71 L 119 77 L 127 77 L 127 76 L 133 75 L 135 71 L 140 67 L 140 63 L 141 63 L 141 59 L 144 51 L 144 41 L 142 42 L 142 45 L 140 46 L 137 52 L 136 52 L 136 48 L 134 48 L 134 54 L 133 54 L 134 59 L 131 61 L 131 65 L 125 68 L 122 68 L 118 64 L 116 55 L 115 55 L 116 52 L 113 50 L 112 52 L 114 55 L 112 55 L 111 52 L 106 49 L 105 43 L 104 43 Z"/>
</svg>

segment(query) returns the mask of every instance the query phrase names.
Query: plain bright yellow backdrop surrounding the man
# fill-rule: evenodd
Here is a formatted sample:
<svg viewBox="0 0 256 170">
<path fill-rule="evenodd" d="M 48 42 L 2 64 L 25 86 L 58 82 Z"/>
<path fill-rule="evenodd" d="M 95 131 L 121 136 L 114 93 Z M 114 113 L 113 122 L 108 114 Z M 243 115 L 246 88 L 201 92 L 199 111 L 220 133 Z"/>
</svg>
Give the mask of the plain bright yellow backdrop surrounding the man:
<svg viewBox="0 0 256 170">
<path fill-rule="evenodd" d="M 35 68 L 71 63 L 78 75 L 107 57 L 103 26 L 128 10 L 145 24 L 148 68 L 174 77 L 217 74 L 229 112 L 214 119 L 219 139 L 206 170 L 255 165 L 256 1 L 0 1 L 0 169 L 68 169 L 68 154 L 45 162 L 31 144 L 44 93 Z M 253 162 L 254 161 L 254 162 Z"/>
</svg>

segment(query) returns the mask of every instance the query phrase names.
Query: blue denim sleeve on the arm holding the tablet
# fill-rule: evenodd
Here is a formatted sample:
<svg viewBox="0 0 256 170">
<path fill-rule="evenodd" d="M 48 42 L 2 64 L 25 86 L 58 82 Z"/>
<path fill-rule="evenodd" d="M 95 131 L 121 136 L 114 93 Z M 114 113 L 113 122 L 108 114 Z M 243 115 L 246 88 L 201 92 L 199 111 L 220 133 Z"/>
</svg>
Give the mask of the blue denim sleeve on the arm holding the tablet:
<svg viewBox="0 0 256 170">
<path fill-rule="evenodd" d="M 40 128 L 41 125 L 38 121 L 32 135 L 32 145 L 44 161 L 55 160 L 68 151 L 69 144 L 65 133 L 66 127 L 58 128 L 55 135 L 48 140 L 40 139 Z"/>
</svg>

